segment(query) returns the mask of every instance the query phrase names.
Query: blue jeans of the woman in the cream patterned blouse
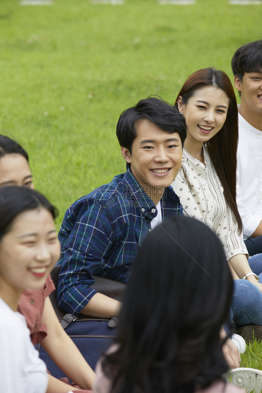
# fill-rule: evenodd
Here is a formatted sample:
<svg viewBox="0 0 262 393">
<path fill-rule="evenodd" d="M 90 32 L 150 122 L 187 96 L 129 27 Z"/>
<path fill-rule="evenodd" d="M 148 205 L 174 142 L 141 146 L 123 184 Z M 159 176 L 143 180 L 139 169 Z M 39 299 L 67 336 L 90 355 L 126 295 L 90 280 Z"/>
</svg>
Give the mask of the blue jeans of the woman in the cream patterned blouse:
<svg viewBox="0 0 262 393">
<path fill-rule="evenodd" d="M 262 254 L 253 255 L 248 263 L 262 283 Z M 234 280 L 231 308 L 236 325 L 262 325 L 262 292 L 248 280 Z"/>
</svg>

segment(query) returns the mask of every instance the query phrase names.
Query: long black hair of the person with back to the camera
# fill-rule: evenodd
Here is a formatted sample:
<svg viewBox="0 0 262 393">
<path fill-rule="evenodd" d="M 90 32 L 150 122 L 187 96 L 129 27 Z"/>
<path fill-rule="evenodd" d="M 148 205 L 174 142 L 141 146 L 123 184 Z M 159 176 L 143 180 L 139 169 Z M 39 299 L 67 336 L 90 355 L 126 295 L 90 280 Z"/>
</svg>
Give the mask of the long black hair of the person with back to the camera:
<svg viewBox="0 0 262 393">
<path fill-rule="evenodd" d="M 227 371 L 220 328 L 233 280 L 207 225 L 178 217 L 139 249 L 119 320 L 119 348 L 105 356 L 114 393 L 192 393 Z"/>
</svg>

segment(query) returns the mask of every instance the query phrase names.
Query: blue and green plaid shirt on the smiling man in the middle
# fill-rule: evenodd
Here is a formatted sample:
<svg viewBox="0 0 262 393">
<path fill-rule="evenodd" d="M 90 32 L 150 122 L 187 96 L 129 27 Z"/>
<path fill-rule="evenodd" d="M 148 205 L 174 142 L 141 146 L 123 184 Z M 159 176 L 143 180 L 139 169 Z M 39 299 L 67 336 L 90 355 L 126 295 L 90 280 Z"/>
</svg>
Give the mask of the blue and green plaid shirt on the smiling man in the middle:
<svg viewBox="0 0 262 393">
<path fill-rule="evenodd" d="M 162 220 L 183 215 L 171 187 L 160 201 Z M 66 211 L 59 240 L 62 264 L 57 301 L 78 315 L 96 293 L 93 274 L 126 283 L 157 209 L 130 170 L 78 199 Z"/>
</svg>

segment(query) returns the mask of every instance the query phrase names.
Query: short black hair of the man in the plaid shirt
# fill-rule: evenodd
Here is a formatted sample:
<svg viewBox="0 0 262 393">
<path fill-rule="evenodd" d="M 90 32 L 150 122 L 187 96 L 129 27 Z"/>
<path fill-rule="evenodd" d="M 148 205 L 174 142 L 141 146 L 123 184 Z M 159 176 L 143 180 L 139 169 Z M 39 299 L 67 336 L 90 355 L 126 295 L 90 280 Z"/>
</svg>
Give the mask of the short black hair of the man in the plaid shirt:
<svg viewBox="0 0 262 393">
<path fill-rule="evenodd" d="M 166 101 L 150 96 L 138 101 L 134 107 L 124 110 L 117 122 L 116 135 L 119 144 L 128 149 L 130 154 L 132 154 L 132 143 L 136 138 L 136 123 L 141 119 L 151 121 L 169 134 L 177 132 L 183 147 L 187 135 L 185 118 L 177 108 Z M 126 169 L 130 166 L 131 164 L 127 162 Z"/>
</svg>

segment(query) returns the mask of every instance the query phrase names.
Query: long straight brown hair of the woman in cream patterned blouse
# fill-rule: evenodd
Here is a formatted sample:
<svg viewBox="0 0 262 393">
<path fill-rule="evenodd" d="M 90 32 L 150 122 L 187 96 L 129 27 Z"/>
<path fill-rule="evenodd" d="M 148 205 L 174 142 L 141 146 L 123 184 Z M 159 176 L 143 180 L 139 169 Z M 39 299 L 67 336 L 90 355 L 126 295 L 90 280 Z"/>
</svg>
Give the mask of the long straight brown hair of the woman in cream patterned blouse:
<svg viewBox="0 0 262 393">
<path fill-rule="evenodd" d="M 231 81 L 224 71 L 216 68 L 202 68 L 190 75 L 183 84 L 179 96 L 183 104 L 187 104 L 196 90 L 214 86 L 222 89 L 229 98 L 227 117 L 222 129 L 205 142 L 214 168 L 224 188 L 225 199 L 231 207 L 238 224 L 238 230 L 242 232 L 242 220 L 236 205 L 236 150 L 238 145 L 238 109 L 236 96 Z"/>
</svg>

